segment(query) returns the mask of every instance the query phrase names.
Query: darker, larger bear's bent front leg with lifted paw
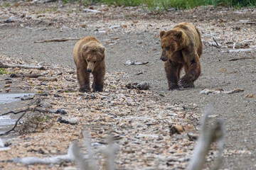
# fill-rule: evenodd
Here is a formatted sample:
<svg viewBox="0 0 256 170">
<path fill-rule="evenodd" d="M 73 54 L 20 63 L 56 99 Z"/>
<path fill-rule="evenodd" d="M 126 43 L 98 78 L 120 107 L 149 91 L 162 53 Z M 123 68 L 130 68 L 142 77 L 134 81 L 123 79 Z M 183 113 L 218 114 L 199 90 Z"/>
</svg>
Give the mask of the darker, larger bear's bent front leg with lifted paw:
<svg viewBox="0 0 256 170">
<path fill-rule="evenodd" d="M 198 79 L 201 74 L 201 65 L 198 55 L 197 57 L 186 63 L 185 72 L 186 74 L 178 81 L 178 85 L 184 88 L 194 87 L 193 82 Z"/>
</svg>

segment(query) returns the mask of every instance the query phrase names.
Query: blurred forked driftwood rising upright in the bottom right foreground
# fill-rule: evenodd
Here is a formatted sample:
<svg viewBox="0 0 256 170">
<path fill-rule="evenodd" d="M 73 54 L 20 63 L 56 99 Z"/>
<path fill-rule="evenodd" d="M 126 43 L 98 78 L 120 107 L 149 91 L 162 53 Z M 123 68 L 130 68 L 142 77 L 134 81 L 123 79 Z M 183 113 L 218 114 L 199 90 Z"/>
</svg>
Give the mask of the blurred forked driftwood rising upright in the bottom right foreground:
<svg viewBox="0 0 256 170">
<path fill-rule="evenodd" d="M 218 144 L 218 158 L 213 169 L 218 169 L 222 162 L 223 155 L 223 137 L 224 137 L 224 123 L 223 120 L 218 120 L 213 127 L 208 127 L 208 116 L 212 112 L 212 107 L 206 110 L 202 118 L 202 130 L 198 139 L 198 144 L 194 149 L 193 157 L 188 164 L 187 170 L 203 169 L 203 164 L 206 162 L 206 155 L 210 149 L 210 145 L 217 141 Z"/>
</svg>

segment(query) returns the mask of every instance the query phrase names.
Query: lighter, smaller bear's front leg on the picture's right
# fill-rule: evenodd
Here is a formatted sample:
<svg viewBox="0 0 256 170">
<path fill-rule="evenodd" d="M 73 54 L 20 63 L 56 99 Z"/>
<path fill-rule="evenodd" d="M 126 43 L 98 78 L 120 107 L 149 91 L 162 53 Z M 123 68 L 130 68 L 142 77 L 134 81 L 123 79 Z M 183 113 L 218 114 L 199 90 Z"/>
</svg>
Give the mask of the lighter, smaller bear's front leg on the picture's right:
<svg viewBox="0 0 256 170">
<path fill-rule="evenodd" d="M 92 74 L 93 74 L 93 83 L 92 83 L 93 91 L 100 91 L 100 92 L 103 91 L 105 69 L 95 70 L 95 72 L 92 72 Z"/>
</svg>

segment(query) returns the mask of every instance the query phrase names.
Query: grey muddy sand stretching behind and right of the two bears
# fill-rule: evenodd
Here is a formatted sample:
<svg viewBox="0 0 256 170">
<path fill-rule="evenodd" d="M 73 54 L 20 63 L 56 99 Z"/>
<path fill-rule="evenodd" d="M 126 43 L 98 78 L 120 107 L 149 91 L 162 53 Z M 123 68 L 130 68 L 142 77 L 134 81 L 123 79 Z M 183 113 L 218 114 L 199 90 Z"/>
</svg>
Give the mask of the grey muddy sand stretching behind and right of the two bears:
<svg viewBox="0 0 256 170">
<path fill-rule="evenodd" d="M 23 3 L 16 6 L 1 8 L 1 55 L 55 63 L 74 69 L 72 52 L 75 41 L 34 42 L 95 35 L 107 49 L 108 73 L 125 72 L 127 76 L 123 79 L 127 82 L 148 81 L 151 91 L 164 94 L 164 97 L 159 96 L 156 100 L 186 105 L 195 103 L 199 108 L 198 115 L 213 103 L 213 117 L 225 120 L 225 149 L 238 150 L 235 154 L 224 157 L 222 169 L 256 168 L 255 8 L 237 10 L 206 6 L 159 14 L 144 8 L 97 5 L 91 7 L 102 13 L 80 11 L 76 4 L 63 6 L 61 3 Z M 52 8 L 56 10 L 46 11 Z M 22 13 L 25 16 L 19 17 Z M 10 17 L 16 17 L 14 22 L 4 22 Z M 168 91 L 164 62 L 159 60 L 161 47 L 158 34 L 159 30 L 168 30 L 182 21 L 195 24 L 201 32 L 204 42 L 202 74 L 196 81 L 195 88 Z M 208 42 L 213 42 L 213 38 L 222 47 L 211 46 Z M 252 40 L 251 51 L 223 52 L 232 50 L 228 43 L 233 45 L 243 40 Z M 250 58 L 230 61 L 243 57 Z M 127 60 L 149 64 L 125 66 Z M 139 72 L 142 74 L 137 75 Z M 244 91 L 237 94 L 199 94 L 203 89 L 214 88 L 225 91 L 241 88 Z M 251 98 L 246 97 L 249 94 L 252 94 Z"/>
</svg>

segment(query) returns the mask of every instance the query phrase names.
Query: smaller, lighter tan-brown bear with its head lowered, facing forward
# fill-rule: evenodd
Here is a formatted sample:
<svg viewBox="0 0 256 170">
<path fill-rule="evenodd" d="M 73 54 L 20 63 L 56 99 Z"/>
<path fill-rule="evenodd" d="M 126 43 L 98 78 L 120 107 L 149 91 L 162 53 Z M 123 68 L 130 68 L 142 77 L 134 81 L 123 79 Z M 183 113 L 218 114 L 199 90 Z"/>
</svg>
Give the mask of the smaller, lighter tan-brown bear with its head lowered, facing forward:
<svg viewBox="0 0 256 170">
<path fill-rule="evenodd" d="M 79 91 L 90 91 L 90 73 L 93 91 L 102 91 L 105 76 L 105 47 L 94 36 L 81 38 L 75 44 L 73 57 L 77 67 Z"/>
</svg>

